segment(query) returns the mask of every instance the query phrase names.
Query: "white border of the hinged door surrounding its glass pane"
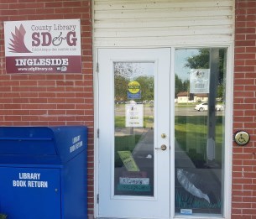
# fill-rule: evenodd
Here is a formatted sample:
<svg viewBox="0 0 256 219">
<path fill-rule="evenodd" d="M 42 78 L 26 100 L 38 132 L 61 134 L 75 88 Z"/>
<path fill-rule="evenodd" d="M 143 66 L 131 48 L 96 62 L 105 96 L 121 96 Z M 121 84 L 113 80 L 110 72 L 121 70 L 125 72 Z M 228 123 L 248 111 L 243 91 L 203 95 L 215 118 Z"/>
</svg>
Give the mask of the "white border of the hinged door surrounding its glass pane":
<svg viewBox="0 0 256 219">
<path fill-rule="evenodd" d="M 100 203 L 107 201 L 109 206 L 102 205 L 102 216 L 112 215 L 109 212 L 116 212 L 117 216 L 123 216 L 122 207 L 125 209 L 133 209 L 134 211 L 127 211 L 127 216 L 154 216 L 154 218 L 169 218 L 170 217 L 170 198 L 166 194 L 170 194 L 170 49 L 123 49 L 123 50 L 100 50 L 99 63 L 102 65 L 102 70 L 99 70 L 102 87 L 102 101 L 99 103 L 100 108 L 99 124 L 101 132 L 99 144 L 101 151 L 99 155 L 101 163 L 106 166 L 106 171 L 102 171 L 99 178 L 102 179 L 102 186 L 99 188 Z M 113 163 L 109 163 L 110 158 L 113 157 L 111 148 L 113 143 L 113 116 L 114 106 L 110 104 L 113 102 L 113 75 L 107 72 L 113 72 L 113 62 L 154 62 L 154 147 L 159 148 L 162 144 L 167 146 L 165 151 L 154 149 L 154 196 L 113 196 L 113 188 L 111 180 L 113 179 Z M 101 66 L 100 66 L 101 67 Z M 157 73 L 157 74 L 156 74 Z M 112 77 L 111 77 L 112 76 Z M 107 95 L 105 93 L 107 92 Z M 99 96 L 100 97 L 100 96 Z M 173 102 L 174 104 L 174 102 Z M 107 114 L 106 114 L 107 112 Z M 110 116 L 107 116 L 110 115 Z M 102 122 L 101 122 L 102 121 Z M 111 129 L 107 127 L 110 125 Z M 174 126 L 174 124 L 173 124 Z M 165 133 L 166 138 L 161 138 L 161 134 Z M 174 139 L 174 138 L 172 138 Z M 102 143 L 100 143 L 100 141 Z M 105 145 L 105 147 L 104 147 Z M 102 154 L 102 155 L 101 155 Z M 112 169 L 112 171 L 110 171 Z M 166 173 L 166 174 L 165 174 Z M 105 181 L 106 179 L 106 181 Z M 161 179 L 161 180 L 159 180 Z M 174 178 L 171 178 L 174 184 Z M 104 186 L 103 186 L 104 185 Z M 109 189 L 112 196 L 109 196 Z M 122 204 L 120 204 L 122 203 Z M 120 205 L 120 207 L 118 207 Z M 134 207 L 133 207 L 134 206 Z M 112 210 L 111 210 L 112 209 Z M 158 211 L 161 209 L 161 211 Z"/>
</svg>

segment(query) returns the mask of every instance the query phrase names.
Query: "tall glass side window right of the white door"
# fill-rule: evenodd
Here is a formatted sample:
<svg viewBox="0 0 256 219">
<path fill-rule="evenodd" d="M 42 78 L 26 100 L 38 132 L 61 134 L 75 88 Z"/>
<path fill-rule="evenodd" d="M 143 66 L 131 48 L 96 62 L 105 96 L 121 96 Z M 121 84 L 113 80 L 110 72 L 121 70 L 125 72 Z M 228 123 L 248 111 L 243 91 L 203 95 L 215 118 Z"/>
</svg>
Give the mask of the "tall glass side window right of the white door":
<svg viewBox="0 0 256 219">
<path fill-rule="evenodd" d="M 175 50 L 176 214 L 222 214 L 226 52 Z"/>
</svg>

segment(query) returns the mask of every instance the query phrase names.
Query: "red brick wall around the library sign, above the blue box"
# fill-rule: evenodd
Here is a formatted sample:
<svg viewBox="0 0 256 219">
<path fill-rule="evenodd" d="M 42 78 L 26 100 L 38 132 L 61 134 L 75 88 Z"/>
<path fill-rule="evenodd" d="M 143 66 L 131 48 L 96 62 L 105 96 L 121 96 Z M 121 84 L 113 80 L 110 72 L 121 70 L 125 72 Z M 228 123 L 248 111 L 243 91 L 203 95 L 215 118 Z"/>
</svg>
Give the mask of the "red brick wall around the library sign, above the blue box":
<svg viewBox="0 0 256 219">
<path fill-rule="evenodd" d="M 82 74 L 7 74 L 3 22 L 81 19 Z M 0 125 L 86 125 L 88 213 L 93 214 L 93 77 L 90 0 L 0 1 Z"/>
</svg>

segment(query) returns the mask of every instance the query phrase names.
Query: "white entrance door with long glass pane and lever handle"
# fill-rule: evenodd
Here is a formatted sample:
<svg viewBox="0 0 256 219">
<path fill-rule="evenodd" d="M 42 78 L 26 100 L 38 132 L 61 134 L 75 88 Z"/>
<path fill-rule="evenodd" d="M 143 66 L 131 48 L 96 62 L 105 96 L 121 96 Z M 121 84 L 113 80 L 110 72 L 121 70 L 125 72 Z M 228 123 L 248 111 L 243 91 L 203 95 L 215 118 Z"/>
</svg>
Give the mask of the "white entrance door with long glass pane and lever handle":
<svg viewBox="0 0 256 219">
<path fill-rule="evenodd" d="M 170 218 L 170 49 L 97 56 L 98 216 Z"/>
</svg>

